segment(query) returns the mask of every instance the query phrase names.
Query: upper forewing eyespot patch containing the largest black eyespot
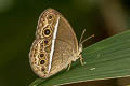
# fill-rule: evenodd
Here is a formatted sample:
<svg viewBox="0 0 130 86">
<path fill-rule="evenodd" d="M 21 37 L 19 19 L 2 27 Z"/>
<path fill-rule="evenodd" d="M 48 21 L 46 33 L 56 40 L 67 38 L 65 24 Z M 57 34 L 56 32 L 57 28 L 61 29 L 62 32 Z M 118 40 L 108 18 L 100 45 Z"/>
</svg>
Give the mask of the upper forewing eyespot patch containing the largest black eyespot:
<svg viewBox="0 0 130 86">
<path fill-rule="evenodd" d="M 54 17 L 55 15 L 52 13 L 41 15 L 38 23 L 38 29 L 36 32 L 37 38 L 52 37 L 52 30 L 53 30 L 52 25 L 54 23 Z"/>
</svg>

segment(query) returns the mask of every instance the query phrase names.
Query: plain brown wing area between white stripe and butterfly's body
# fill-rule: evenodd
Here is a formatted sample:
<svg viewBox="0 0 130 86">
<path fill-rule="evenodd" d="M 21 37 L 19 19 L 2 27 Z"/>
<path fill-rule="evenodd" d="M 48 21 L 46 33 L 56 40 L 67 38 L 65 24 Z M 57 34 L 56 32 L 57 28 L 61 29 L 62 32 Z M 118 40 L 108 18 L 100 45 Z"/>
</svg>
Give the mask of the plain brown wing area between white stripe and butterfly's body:
<svg viewBox="0 0 130 86">
<path fill-rule="evenodd" d="M 56 12 L 56 11 L 55 11 Z M 47 75 L 51 76 L 67 66 L 74 59 L 74 54 L 78 53 L 78 41 L 69 23 L 58 13 L 58 26 L 54 44 L 54 55 L 51 64 L 51 71 Z"/>
</svg>

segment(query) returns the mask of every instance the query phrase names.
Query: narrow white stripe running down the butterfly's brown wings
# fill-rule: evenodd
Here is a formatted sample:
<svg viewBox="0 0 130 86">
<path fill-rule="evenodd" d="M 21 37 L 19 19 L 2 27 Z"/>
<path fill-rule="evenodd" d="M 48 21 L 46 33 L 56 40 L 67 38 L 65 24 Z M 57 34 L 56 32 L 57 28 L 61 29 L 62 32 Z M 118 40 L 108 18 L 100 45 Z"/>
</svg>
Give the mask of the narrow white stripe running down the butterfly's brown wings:
<svg viewBox="0 0 130 86">
<path fill-rule="evenodd" d="M 52 46 L 51 46 L 51 53 L 50 53 L 50 60 L 49 60 L 49 71 L 48 72 L 50 72 L 50 70 L 51 70 L 52 57 L 53 57 L 53 53 L 54 53 L 54 43 L 55 43 L 55 39 L 56 39 L 58 23 L 60 23 L 60 17 L 57 18 L 56 25 L 54 27 L 54 33 L 53 33 Z"/>
</svg>

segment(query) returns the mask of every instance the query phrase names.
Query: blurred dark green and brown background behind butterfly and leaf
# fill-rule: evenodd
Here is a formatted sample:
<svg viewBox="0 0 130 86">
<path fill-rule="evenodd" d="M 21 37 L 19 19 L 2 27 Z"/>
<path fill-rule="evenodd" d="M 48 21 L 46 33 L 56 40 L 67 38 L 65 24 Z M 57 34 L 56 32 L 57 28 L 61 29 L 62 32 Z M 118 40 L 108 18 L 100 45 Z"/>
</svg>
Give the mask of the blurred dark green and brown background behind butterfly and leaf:
<svg viewBox="0 0 130 86">
<path fill-rule="evenodd" d="M 0 86 L 28 86 L 38 77 L 30 69 L 28 53 L 39 15 L 48 8 L 68 19 L 78 40 L 83 29 L 84 38 L 95 34 L 84 46 L 130 27 L 130 0 L 0 0 Z M 89 86 L 107 86 L 109 82 L 116 86 L 118 80 Z"/>
</svg>

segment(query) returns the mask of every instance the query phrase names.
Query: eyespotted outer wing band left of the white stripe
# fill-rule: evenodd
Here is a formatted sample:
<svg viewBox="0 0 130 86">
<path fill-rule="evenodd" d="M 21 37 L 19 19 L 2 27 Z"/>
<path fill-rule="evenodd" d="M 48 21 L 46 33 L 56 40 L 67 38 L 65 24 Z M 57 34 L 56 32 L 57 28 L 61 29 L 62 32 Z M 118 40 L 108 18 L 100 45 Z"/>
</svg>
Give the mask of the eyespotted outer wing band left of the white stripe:
<svg viewBox="0 0 130 86">
<path fill-rule="evenodd" d="M 36 40 L 30 49 L 30 66 L 41 77 L 48 73 L 52 38 L 57 15 L 53 10 L 41 13 L 36 30 Z"/>
</svg>

